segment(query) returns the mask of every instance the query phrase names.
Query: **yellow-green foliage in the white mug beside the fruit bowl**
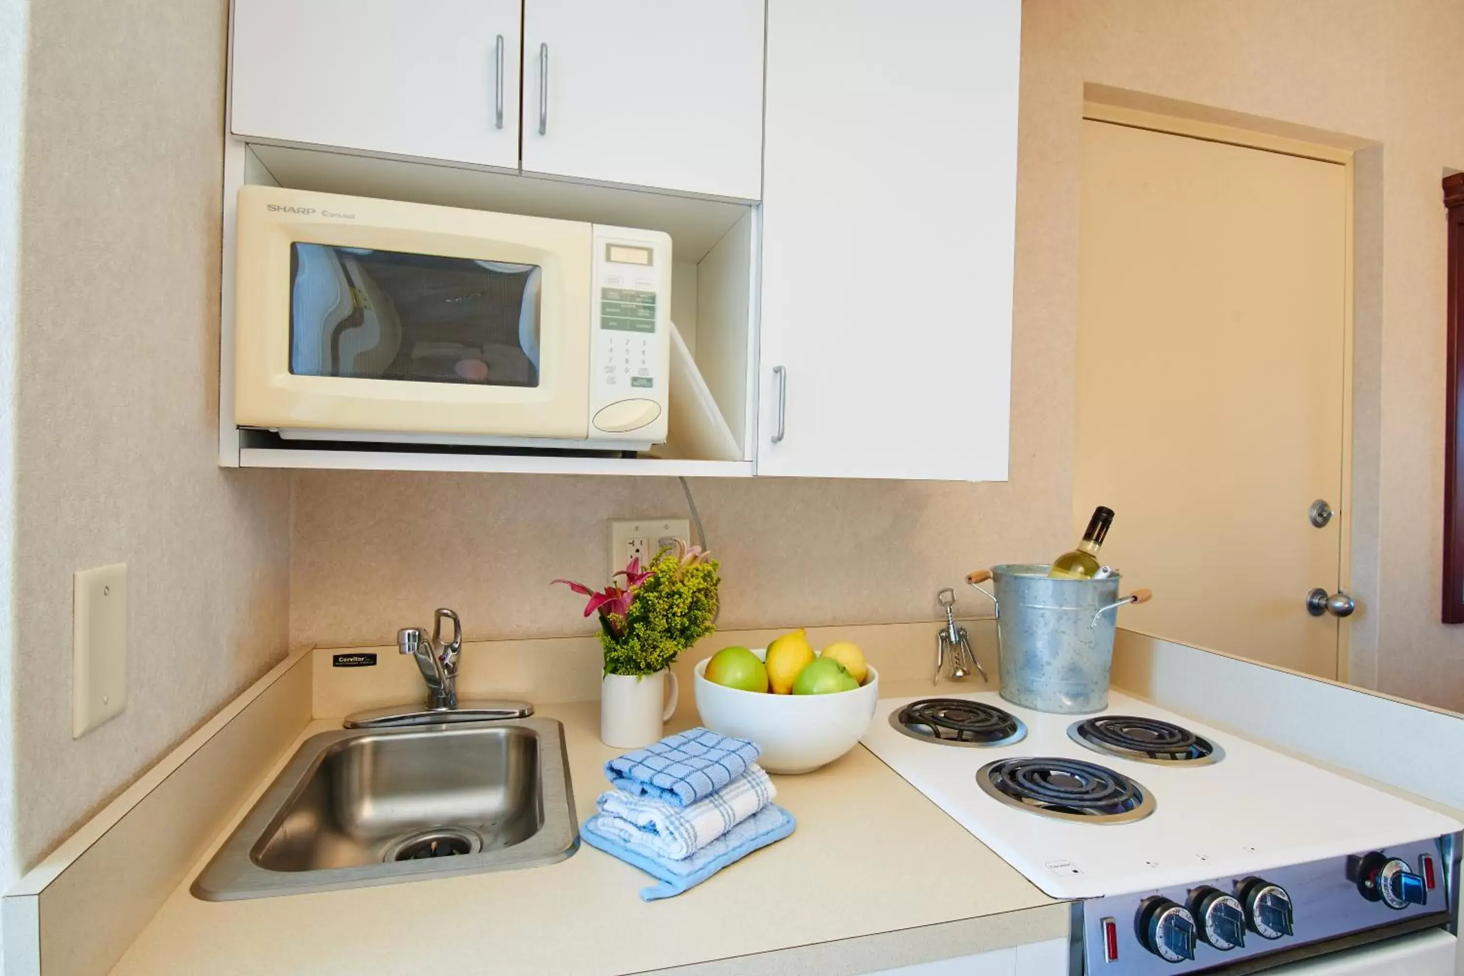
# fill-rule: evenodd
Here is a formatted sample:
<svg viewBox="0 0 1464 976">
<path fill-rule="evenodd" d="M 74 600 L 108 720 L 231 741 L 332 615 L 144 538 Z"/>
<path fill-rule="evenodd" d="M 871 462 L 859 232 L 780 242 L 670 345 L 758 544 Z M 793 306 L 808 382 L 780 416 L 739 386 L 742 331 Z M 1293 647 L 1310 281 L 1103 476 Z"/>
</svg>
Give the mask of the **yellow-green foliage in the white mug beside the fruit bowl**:
<svg viewBox="0 0 1464 976">
<path fill-rule="evenodd" d="M 657 553 L 624 617 L 600 619 L 606 675 L 654 675 L 714 631 L 717 560 Z M 616 637 L 616 631 L 619 637 Z"/>
</svg>

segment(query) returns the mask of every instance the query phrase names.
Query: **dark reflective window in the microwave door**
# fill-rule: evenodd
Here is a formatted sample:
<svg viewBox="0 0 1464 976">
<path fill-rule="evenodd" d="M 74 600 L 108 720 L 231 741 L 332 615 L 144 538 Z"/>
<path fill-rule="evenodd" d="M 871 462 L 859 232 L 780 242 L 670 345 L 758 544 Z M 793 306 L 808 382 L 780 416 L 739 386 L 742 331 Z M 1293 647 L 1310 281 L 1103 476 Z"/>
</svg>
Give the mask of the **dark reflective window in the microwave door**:
<svg viewBox="0 0 1464 976">
<path fill-rule="evenodd" d="M 296 243 L 290 372 L 539 385 L 536 265 Z"/>
</svg>

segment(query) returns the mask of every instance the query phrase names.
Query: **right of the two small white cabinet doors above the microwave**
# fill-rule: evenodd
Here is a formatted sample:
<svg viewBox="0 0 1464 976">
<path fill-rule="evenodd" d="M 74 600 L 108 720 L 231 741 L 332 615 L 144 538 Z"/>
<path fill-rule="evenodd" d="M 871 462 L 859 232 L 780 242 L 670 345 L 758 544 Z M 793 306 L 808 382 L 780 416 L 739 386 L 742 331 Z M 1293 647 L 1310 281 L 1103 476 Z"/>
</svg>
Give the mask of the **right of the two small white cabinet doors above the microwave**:
<svg viewBox="0 0 1464 976">
<path fill-rule="evenodd" d="M 524 171 L 757 199 L 763 0 L 526 0 Z"/>
</svg>

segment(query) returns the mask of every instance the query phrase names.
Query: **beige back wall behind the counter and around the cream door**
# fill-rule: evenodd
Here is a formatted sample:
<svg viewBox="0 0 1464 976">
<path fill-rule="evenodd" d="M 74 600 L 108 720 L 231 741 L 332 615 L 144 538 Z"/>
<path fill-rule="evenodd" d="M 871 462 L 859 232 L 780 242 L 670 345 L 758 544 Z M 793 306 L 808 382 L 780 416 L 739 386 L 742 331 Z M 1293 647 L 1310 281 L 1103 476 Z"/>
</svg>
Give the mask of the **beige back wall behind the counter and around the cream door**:
<svg viewBox="0 0 1464 976">
<path fill-rule="evenodd" d="M 1360 519 L 1381 541 L 1357 579 L 1373 590 L 1357 594 L 1370 615 L 1357 656 L 1376 660 L 1383 691 L 1464 707 L 1464 632 L 1438 623 L 1439 179 L 1464 167 L 1464 113 L 1442 92 L 1460 78 L 1460 38 L 1455 0 L 1026 3 L 1012 480 L 697 481 L 726 565 L 723 620 L 927 619 L 935 588 L 963 571 L 1066 543 L 1079 117 L 1085 83 L 1110 85 L 1382 143 L 1370 224 L 1385 255 L 1381 366 L 1366 373 L 1382 476 L 1376 511 Z M 959 449 L 955 418 L 931 423 L 947 424 Z M 386 641 L 438 603 L 458 606 L 474 638 L 583 632 L 575 600 L 548 579 L 600 578 L 606 518 L 681 511 L 675 483 L 662 480 L 300 474 L 291 639 Z"/>
</svg>

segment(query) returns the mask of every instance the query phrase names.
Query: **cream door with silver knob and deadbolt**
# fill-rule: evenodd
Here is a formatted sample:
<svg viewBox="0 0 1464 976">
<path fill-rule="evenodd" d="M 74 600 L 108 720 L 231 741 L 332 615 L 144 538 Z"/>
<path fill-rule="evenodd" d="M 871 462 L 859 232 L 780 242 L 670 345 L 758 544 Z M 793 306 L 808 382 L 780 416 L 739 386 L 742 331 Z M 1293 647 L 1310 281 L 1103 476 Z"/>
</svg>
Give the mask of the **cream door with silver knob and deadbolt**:
<svg viewBox="0 0 1464 976">
<path fill-rule="evenodd" d="M 1337 677 L 1347 167 L 1083 121 L 1073 503 L 1121 625 Z"/>
</svg>

